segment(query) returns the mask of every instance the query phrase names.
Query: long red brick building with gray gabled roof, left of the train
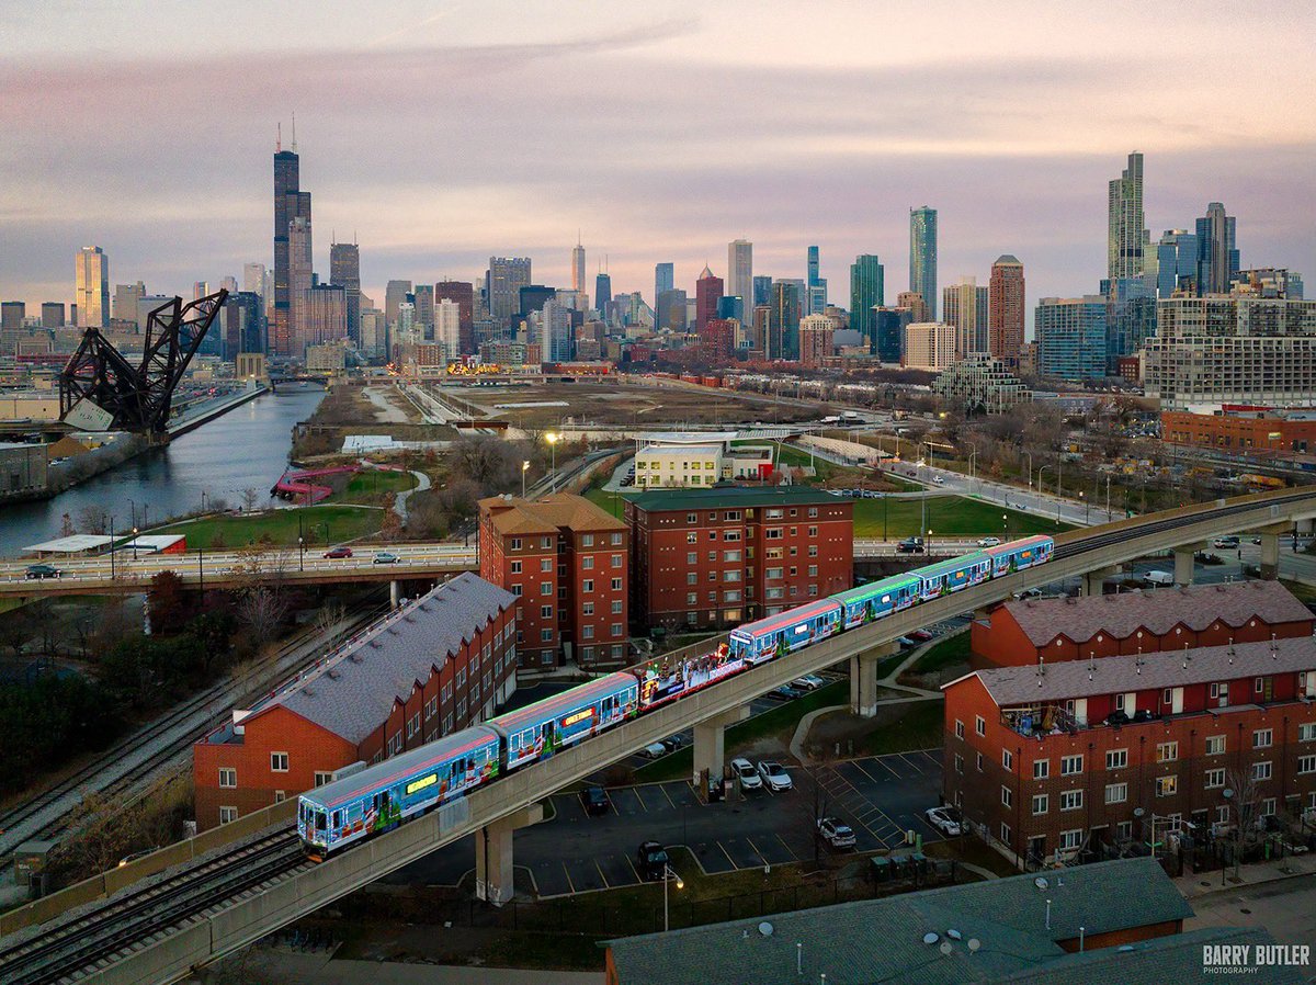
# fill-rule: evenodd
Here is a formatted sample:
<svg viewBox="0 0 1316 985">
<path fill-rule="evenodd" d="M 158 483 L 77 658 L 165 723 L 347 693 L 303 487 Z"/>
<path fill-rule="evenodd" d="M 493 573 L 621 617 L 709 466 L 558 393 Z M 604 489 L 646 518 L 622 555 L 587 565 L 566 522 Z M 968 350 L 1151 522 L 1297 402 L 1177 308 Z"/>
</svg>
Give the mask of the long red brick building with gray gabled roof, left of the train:
<svg viewBox="0 0 1316 985">
<path fill-rule="evenodd" d="M 516 599 L 465 573 L 393 610 L 192 747 L 200 830 L 491 718 L 516 690 Z"/>
</svg>

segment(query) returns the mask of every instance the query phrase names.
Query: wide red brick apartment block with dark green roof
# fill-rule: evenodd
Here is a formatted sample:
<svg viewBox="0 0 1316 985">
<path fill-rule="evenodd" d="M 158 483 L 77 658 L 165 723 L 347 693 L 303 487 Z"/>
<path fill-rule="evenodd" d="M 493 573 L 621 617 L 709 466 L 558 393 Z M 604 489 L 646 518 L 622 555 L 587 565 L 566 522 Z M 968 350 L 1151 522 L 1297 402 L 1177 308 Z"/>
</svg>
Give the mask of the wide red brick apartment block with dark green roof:
<svg viewBox="0 0 1316 985">
<path fill-rule="evenodd" d="M 796 487 L 629 499 L 636 624 L 725 628 L 851 587 L 853 510 L 849 499 Z"/>
</svg>

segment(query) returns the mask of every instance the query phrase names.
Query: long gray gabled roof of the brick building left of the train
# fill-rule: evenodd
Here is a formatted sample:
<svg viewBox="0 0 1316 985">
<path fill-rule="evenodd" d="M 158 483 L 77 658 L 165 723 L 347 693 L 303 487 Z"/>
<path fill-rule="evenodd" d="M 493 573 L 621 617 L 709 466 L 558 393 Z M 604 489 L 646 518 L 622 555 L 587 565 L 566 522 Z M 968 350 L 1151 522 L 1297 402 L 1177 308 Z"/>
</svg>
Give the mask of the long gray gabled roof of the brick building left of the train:
<svg viewBox="0 0 1316 985">
<path fill-rule="evenodd" d="M 442 668 L 449 654 L 515 603 L 512 593 L 463 572 L 375 623 L 243 720 L 282 705 L 359 745 L 432 668 Z"/>
</svg>

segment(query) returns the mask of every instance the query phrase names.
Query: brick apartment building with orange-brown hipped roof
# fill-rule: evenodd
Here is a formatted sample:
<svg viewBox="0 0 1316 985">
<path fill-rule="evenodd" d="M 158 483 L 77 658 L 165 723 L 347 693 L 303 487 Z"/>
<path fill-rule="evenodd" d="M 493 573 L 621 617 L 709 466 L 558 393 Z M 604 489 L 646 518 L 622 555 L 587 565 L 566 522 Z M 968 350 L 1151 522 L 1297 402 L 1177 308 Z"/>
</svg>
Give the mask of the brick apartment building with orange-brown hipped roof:
<svg viewBox="0 0 1316 985">
<path fill-rule="evenodd" d="M 517 597 L 521 666 L 626 657 L 626 527 L 584 496 L 480 500 L 480 577 Z"/>
</svg>

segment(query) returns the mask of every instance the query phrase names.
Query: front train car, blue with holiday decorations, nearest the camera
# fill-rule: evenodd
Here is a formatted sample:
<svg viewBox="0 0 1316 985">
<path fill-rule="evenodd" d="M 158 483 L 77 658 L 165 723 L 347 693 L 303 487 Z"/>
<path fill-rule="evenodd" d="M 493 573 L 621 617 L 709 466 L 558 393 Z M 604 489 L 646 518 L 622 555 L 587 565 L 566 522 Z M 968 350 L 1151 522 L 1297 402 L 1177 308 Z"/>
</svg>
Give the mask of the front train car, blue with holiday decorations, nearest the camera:
<svg viewBox="0 0 1316 985">
<path fill-rule="evenodd" d="M 307 853 L 329 852 L 388 831 L 499 773 L 501 737 L 475 726 L 308 790 L 297 799 L 297 835 Z"/>
</svg>

